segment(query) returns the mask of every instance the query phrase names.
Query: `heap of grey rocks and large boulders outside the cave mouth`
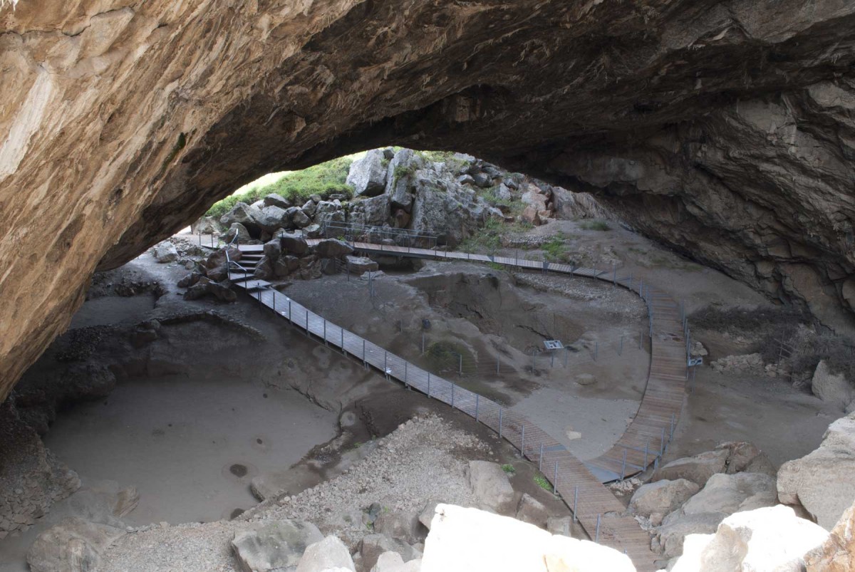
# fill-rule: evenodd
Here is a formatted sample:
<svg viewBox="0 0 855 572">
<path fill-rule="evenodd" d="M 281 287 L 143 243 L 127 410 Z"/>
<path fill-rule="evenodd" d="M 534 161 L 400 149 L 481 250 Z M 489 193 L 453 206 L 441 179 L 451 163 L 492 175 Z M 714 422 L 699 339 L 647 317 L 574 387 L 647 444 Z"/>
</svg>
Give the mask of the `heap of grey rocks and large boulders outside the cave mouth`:
<svg viewBox="0 0 855 572">
<path fill-rule="evenodd" d="M 302 230 L 310 238 L 326 232 L 327 223 L 405 228 L 439 236 L 440 244 L 457 245 L 489 219 L 544 224 L 557 217 L 605 216 L 586 193 L 510 174 L 473 156 L 455 154 L 434 162 L 410 149 L 370 150 L 351 164 L 347 184 L 353 200 L 342 195 L 312 195 L 302 205 L 278 194 L 256 203 L 237 203 L 220 219 L 203 217 L 194 233 L 221 234 L 241 243 L 267 242 L 280 230 Z M 516 205 L 525 207 L 516 215 Z M 168 250 L 164 251 L 168 257 Z"/>
</svg>

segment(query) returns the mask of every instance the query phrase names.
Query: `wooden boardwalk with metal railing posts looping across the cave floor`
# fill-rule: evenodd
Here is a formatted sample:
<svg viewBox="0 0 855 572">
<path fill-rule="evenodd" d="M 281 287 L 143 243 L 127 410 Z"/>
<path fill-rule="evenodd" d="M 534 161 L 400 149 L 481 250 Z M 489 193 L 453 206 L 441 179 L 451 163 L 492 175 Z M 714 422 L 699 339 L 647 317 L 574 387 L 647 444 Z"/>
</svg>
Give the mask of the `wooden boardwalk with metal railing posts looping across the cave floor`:
<svg viewBox="0 0 855 572">
<path fill-rule="evenodd" d="M 311 241 L 316 242 L 316 241 Z M 418 368 L 404 358 L 386 351 L 367 339 L 327 321 L 321 315 L 298 304 L 263 280 L 244 280 L 243 273 L 233 274 L 235 286 L 245 287 L 260 304 L 320 339 L 428 398 L 438 399 L 461 410 L 476 421 L 496 431 L 522 452 L 540 470 L 562 496 L 575 518 L 598 542 L 625 551 L 636 569 L 654 570 L 650 534 L 631 516 L 625 516 L 623 504 L 602 483 L 634 475 L 661 455 L 679 419 L 686 380 L 685 345 L 679 306 L 664 292 L 635 283 L 631 277 L 618 278 L 616 271 L 576 268 L 568 264 L 528 261 L 509 257 L 492 257 L 463 252 L 445 252 L 400 246 L 354 243 L 357 251 L 394 256 L 429 257 L 439 260 L 494 262 L 507 267 L 539 269 L 606 280 L 615 286 L 639 292 L 652 310 L 651 371 L 634 421 L 622 438 L 600 457 L 582 463 L 528 418 L 504 409 L 480 395 L 457 386 L 449 380 Z M 260 256 L 261 245 L 241 245 L 247 259 Z M 243 259 L 242 259 L 243 260 Z M 654 439 L 655 438 L 655 439 Z M 662 441 L 660 443 L 660 440 Z"/>
</svg>

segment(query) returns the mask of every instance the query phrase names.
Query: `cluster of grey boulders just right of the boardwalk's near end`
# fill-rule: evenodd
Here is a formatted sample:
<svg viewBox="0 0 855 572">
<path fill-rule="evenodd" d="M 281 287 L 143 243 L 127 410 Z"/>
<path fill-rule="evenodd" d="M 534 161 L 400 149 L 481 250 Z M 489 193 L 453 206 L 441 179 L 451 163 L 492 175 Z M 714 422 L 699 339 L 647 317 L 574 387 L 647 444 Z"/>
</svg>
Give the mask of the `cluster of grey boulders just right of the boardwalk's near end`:
<svg viewBox="0 0 855 572">
<path fill-rule="evenodd" d="M 629 508 L 654 534 L 663 557 L 681 554 L 687 534 L 711 534 L 727 516 L 777 501 L 775 467 L 754 445 L 728 442 L 663 465 Z"/>
</svg>

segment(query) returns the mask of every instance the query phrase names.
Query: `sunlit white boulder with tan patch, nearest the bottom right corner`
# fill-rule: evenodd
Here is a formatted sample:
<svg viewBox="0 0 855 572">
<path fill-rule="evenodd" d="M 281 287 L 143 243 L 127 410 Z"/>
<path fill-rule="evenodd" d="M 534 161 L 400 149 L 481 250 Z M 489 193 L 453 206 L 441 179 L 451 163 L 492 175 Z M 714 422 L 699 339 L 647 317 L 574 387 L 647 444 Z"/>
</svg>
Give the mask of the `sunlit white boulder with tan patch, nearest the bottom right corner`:
<svg viewBox="0 0 855 572">
<path fill-rule="evenodd" d="M 786 506 L 770 506 L 740 512 L 725 518 L 713 534 L 687 546 L 682 563 L 675 570 L 705 572 L 731 570 L 775 570 L 800 572 L 805 554 L 823 545 L 828 532 L 813 522 L 799 518 Z M 679 568 L 678 568 L 679 565 Z"/>
</svg>

